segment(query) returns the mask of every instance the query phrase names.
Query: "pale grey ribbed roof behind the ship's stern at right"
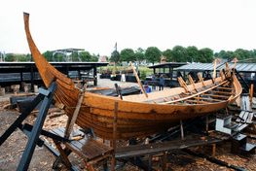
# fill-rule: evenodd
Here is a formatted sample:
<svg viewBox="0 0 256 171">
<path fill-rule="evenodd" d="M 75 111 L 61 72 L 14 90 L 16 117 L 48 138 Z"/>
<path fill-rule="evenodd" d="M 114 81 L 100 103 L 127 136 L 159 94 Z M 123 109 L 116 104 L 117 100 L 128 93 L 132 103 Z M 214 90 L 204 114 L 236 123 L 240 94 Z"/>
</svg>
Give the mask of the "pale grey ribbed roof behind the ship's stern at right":
<svg viewBox="0 0 256 171">
<path fill-rule="evenodd" d="M 234 63 L 229 63 L 230 67 L 234 66 Z M 225 68 L 225 64 L 217 65 L 217 70 Z M 211 71 L 213 70 L 213 63 L 189 63 L 187 65 L 176 68 L 182 71 Z M 236 69 L 238 72 L 256 72 L 256 63 L 237 63 Z"/>
</svg>

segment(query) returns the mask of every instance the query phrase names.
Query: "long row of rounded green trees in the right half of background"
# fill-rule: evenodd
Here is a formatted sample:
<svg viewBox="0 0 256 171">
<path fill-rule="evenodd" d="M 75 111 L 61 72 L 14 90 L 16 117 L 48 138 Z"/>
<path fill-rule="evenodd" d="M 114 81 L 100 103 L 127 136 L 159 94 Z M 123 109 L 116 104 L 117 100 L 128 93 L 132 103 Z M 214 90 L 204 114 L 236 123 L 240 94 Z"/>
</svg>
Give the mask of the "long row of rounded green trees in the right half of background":
<svg viewBox="0 0 256 171">
<path fill-rule="evenodd" d="M 209 48 L 199 50 L 195 46 L 182 47 L 175 46 L 171 50 L 160 51 L 157 47 L 149 47 L 146 50 L 141 48 L 133 51 L 132 49 L 124 49 L 122 51 L 113 51 L 110 61 L 116 63 L 123 61 L 138 61 L 146 60 L 147 63 L 160 62 L 161 56 L 165 56 L 168 62 L 212 62 L 214 58 L 232 59 L 237 57 L 238 60 L 256 59 L 256 50 L 247 51 L 238 49 L 236 51 L 219 51 L 213 52 Z M 248 60 L 249 61 L 249 60 Z"/>
</svg>

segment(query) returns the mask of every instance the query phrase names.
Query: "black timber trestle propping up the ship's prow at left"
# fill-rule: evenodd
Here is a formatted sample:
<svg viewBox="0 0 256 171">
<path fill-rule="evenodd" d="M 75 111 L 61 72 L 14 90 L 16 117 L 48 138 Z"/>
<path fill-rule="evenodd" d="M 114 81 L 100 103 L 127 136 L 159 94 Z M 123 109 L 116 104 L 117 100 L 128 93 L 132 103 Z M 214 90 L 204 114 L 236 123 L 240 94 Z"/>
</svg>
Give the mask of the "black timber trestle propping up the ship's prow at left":
<svg viewBox="0 0 256 171">
<path fill-rule="evenodd" d="M 57 141 L 66 142 L 68 141 L 65 138 L 55 135 L 54 133 L 43 130 L 43 124 L 46 120 L 46 116 L 50 105 L 53 101 L 55 94 L 56 84 L 53 82 L 48 89 L 39 88 L 39 94 L 31 102 L 31 105 L 20 114 L 17 120 L 5 131 L 5 133 L 0 137 L 0 146 L 7 140 L 7 138 L 17 129 L 21 129 L 23 132 L 28 134 L 28 142 L 26 144 L 25 150 L 21 156 L 21 159 L 18 163 L 18 171 L 27 170 L 31 157 L 34 153 L 36 145 L 42 146 L 44 142 L 39 138 L 39 136 L 45 135 L 51 137 Z M 34 125 L 22 124 L 22 121 L 25 120 L 30 113 L 36 108 L 36 106 L 41 102 L 42 105 L 39 110 L 37 119 L 35 120 Z"/>
</svg>

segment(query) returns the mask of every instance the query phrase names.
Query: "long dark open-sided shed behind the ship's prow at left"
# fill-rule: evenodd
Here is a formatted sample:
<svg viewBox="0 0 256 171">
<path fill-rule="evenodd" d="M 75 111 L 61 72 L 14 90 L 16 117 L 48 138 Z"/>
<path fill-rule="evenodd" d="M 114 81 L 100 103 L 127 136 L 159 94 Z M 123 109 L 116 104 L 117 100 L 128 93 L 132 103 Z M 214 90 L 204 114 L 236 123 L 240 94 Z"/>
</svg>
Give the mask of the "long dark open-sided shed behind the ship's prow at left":
<svg viewBox="0 0 256 171">
<path fill-rule="evenodd" d="M 97 85 L 96 68 L 107 66 L 108 62 L 50 62 L 58 71 L 69 78 L 91 81 Z M 8 86 L 22 82 L 42 85 L 34 62 L 0 62 L 0 85 Z"/>
</svg>

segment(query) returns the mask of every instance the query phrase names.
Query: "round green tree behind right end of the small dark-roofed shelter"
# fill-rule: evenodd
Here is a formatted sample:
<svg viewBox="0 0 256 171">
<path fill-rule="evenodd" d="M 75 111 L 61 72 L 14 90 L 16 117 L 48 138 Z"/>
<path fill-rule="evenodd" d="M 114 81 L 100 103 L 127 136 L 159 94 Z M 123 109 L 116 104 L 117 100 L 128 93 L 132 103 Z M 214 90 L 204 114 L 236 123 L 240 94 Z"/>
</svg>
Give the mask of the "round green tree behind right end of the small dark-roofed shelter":
<svg viewBox="0 0 256 171">
<path fill-rule="evenodd" d="M 171 51 L 171 56 L 175 62 L 186 62 L 188 60 L 187 50 L 182 46 L 175 46 Z"/>
</svg>

